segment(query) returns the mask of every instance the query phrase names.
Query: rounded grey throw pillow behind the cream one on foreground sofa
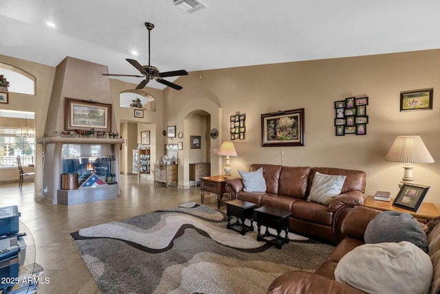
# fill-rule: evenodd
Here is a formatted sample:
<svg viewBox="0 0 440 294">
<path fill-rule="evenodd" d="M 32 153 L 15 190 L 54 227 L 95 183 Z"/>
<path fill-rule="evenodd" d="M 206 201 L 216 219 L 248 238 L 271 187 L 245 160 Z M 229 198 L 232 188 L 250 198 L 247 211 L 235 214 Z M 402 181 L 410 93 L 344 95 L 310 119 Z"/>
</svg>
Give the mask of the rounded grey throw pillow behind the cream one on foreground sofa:
<svg viewBox="0 0 440 294">
<path fill-rule="evenodd" d="M 409 213 L 384 211 L 369 222 L 364 233 L 365 243 L 408 241 L 428 253 L 428 238 L 419 222 Z"/>
</svg>

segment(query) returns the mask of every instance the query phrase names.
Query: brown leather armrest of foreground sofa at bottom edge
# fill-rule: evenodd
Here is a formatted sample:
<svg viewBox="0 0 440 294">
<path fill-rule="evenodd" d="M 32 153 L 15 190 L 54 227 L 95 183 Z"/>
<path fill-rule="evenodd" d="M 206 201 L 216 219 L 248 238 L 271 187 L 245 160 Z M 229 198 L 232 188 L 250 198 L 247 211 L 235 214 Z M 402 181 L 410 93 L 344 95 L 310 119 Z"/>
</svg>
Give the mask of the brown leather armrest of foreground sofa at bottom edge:
<svg viewBox="0 0 440 294">
<path fill-rule="evenodd" d="M 336 282 L 329 277 L 324 277 L 315 273 L 305 271 L 290 271 L 277 277 L 270 284 L 267 293 L 278 294 L 364 294 L 363 291 L 353 288 L 348 284 Z"/>
</svg>

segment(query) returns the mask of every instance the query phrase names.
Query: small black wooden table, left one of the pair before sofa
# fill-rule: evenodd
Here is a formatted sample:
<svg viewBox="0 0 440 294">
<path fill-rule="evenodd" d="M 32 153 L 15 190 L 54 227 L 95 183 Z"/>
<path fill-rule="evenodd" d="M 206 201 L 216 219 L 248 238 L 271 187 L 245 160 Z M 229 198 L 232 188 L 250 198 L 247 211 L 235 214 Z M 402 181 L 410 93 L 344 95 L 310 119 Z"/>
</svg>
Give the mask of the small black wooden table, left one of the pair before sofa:
<svg viewBox="0 0 440 294">
<path fill-rule="evenodd" d="M 254 231 L 254 203 L 239 199 L 226 201 L 225 203 L 226 215 L 228 216 L 226 228 L 238 231 L 241 235 L 245 235 L 248 231 Z M 232 216 L 236 217 L 236 221 L 233 224 L 230 223 Z M 250 226 L 245 224 L 246 219 L 250 220 Z"/>
</svg>

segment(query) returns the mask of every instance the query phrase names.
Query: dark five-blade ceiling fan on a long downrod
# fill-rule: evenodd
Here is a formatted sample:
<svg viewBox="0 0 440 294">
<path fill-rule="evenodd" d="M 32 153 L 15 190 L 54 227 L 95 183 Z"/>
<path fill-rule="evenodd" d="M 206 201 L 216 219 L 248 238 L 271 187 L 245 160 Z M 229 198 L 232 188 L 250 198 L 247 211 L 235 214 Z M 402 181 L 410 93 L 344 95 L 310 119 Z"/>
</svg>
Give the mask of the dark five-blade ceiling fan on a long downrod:
<svg viewBox="0 0 440 294">
<path fill-rule="evenodd" d="M 137 61 L 135 61 L 134 59 L 125 59 L 126 61 L 128 61 L 131 65 L 133 65 L 134 67 L 136 67 L 137 70 L 140 71 L 140 73 L 142 74 L 142 76 L 139 75 L 134 75 L 134 74 L 102 74 L 104 76 L 135 76 L 137 78 L 145 78 L 144 80 L 142 80 L 142 82 L 139 83 L 139 85 L 137 85 L 136 89 L 140 90 L 143 89 L 146 84 L 150 81 L 150 80 L 155 80 L 158 83 L 167 85 L 168 87 L 172 87 L 175 90 L 181 90 L 182 87 L 179 85 L 176 85 L 175 83 L 171 83 L 170 81 L 166 81 L 164 80 L 164 78 L 166 78 L 167 76 L 186 76 L 188 74 L 188 72 L 186 72 L 186 70 L 173 70 L 172 72 L 159 72 L 159 69 L 157 67 L 154 67 L 152 65 L 150 65 L 150 32 L 151 30 L 153 30 L 154 25 L 153 23 L 145 23 L 146 29 L 148 30 L 148 65 L 140 65 L 140 63 L 138 63 Z"/>
</svg>

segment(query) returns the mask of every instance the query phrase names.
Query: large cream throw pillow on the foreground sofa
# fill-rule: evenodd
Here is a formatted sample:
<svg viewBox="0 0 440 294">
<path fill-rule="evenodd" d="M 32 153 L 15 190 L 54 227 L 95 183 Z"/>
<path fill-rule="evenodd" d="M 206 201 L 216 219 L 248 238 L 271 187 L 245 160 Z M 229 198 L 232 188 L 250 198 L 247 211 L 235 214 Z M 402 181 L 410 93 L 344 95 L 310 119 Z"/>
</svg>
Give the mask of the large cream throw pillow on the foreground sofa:
<svg viewBox="0 0 440 294">
<path fill-rule="evenodd" d="M 430 292 L 429 255 L 408 241 L 364 244 L 338 262 L 335 278 L 366 293 Z"/>
</svg>

